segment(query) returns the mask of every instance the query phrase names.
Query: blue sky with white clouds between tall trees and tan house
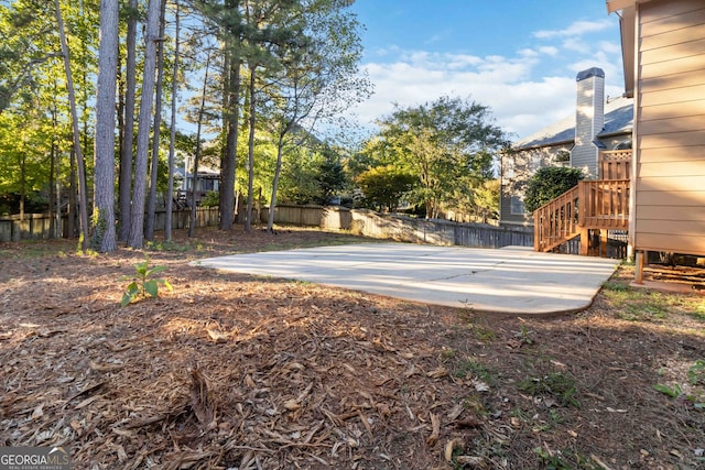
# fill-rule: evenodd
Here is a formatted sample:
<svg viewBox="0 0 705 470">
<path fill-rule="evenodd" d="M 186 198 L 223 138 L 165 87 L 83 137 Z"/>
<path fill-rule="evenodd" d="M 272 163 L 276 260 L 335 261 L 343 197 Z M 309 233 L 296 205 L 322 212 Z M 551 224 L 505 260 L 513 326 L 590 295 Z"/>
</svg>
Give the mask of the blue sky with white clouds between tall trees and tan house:
<svg viewBox="0 0 705 470">
<path fill-rule="evenodd" d="M 470 97 L 522 138 L 575 112 L 575 76 L 605 70 L 623 92 L 619 21 L 604 0 L 356 0 L 365 24 L 361 68 L 375 95 L 355 112 L 365 127 L 392 102 Z"/>
</svg>

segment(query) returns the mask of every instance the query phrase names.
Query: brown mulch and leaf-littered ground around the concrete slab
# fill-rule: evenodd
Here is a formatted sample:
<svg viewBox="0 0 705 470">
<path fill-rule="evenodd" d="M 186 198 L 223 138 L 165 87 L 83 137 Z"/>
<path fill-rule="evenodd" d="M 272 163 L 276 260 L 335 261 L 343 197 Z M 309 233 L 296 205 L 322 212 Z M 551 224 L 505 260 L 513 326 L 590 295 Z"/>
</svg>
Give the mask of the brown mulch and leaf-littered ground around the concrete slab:
<svg viewBox="0 0 705 470">
<path fill-rule="evenodd" d="M 627 266 L 581 314 L 497 318 L 187 265 L 354 239 L 0 244 L 0 445 L 76 469 L 705 468 L 698 293 Z M 145 253 L 174 289 L 120 308 Z"/>
</svg>

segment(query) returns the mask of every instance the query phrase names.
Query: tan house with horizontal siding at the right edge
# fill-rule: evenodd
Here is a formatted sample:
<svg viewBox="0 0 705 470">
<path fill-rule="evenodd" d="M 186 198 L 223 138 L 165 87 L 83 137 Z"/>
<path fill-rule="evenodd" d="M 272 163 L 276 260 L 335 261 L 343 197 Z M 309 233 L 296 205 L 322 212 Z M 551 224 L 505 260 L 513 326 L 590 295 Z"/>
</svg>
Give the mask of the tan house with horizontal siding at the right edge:
<svg viewBox="0 0 705 470">
<path fill-rule="evenodd" d="M 705 255 L 705 1 L 608 0 L 620 11 L 634 99 L 629 200 L 637 281 L 644 252 Z"/>
</svg>

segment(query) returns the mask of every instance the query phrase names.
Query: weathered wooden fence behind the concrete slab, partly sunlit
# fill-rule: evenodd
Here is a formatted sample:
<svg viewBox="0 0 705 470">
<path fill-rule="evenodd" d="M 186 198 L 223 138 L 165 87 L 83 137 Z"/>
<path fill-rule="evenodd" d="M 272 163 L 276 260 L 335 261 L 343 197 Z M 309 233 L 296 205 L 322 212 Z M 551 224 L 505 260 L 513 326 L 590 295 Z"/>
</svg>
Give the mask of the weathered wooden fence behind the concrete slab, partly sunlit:
<svg viewBox="0 0 705 470">
<path fill-rule="evenodd" d="M 268 208 L 262 210 L 262 221 L 267 220 L 268 210 Z M 503 228 L 486 223 L 414 219 L 345 207 L 276 206 L 274 221 L 276 223 L 315 226 L 325 230 L 349 230 L 366 237 L 413 243 L 473 248 L 533 245 L 533 230 L 531 228 Z"/>
</svg>

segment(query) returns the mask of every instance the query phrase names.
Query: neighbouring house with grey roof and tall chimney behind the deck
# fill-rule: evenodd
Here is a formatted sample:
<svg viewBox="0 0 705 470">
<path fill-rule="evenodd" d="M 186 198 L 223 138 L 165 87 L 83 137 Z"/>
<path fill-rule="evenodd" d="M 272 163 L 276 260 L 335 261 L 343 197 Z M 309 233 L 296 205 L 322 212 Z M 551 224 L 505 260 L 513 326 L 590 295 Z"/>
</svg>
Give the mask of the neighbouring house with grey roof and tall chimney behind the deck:
<svg viewBox="0 0 705 470">
<path fill-rule="evenodd" d="M 631 147 L 633 105 L 605 98 L 605 73 L 597 67 L 577 74 L 576 112 L 514 143 L 501 157 L 500 223 L 532 225 L 523 197 L 542 166 L 581 167 L 596 178 L 601 150 Z"/>
</svg>

